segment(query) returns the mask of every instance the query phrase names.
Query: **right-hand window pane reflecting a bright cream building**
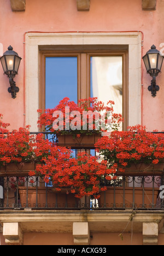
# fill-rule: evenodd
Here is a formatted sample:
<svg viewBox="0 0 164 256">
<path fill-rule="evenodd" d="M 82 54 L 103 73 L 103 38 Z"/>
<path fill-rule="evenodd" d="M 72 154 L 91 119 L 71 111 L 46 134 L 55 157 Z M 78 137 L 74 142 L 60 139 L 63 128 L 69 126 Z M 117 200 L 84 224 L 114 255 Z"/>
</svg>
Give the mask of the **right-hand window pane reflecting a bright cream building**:
<svg viewBox="0 0 164 256">
<path fill-rule="evenodd" d="M 91 97 L 107 103 L 113 100 L 114 112 L 122 114 L 122 57 L 91 57 Z"/>
</svg>

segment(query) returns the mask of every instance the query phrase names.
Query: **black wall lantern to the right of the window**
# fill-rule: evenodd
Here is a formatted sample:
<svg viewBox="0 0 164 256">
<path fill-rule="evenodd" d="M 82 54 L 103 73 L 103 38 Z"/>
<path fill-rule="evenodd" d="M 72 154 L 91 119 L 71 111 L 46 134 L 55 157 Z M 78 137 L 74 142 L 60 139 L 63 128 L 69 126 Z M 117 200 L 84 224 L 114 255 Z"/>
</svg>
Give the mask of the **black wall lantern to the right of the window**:
<svg viewBox="0 0 164 256">
<path fill-rule="evenodd" d="M 156 85 L 156 76 L 161 72 L 163 56 L 159 50 L 156 49 L 155 45 L 152 45 L 151 49 L 143 56 L 143 61 L 147 69 L 147 73 L 153 77 L 148 90 L 151 92 L 151 96 L 155 97 L 156 92 L 160 89 L 160 87 Z"/>
</svg>

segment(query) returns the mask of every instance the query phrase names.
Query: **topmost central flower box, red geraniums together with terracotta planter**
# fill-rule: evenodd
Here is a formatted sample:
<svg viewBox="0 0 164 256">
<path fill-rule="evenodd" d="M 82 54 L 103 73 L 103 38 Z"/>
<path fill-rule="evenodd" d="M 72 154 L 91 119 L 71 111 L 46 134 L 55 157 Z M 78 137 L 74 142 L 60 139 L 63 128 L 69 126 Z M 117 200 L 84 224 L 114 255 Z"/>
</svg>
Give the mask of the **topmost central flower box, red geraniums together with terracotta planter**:
<svg viewBox="0 0 164 256">
<path fill-rule="evenodd" d="M 95 149 L 101 132 L 109 127 L 116 130 L 122 122 L 122 115 L 114 113 L 113 105 L 111 100 L 104 104 L 97 98 L 88 98 L 74 103 L 65 97 L 53 109 L 38 110 L 38 126 L 57 135 L 58 146 Z"/>
</svg>

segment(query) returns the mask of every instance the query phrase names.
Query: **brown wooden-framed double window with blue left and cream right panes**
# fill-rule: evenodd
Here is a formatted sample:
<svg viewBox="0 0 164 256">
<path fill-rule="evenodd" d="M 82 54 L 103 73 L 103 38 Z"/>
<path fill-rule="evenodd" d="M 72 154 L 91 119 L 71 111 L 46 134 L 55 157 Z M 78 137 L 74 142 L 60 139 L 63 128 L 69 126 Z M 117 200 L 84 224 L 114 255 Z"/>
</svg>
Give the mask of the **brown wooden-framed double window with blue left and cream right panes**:
<svg viewBox="0 0 164 256">
<path fill-rule="evenodd" d="M 128 123 L 128 95 L 123 64 L 126 70 L 127 51 L 115 52 L 110 45 L 108 48 L 108 52 L 104 49 L 90 52 L 89 47 L 85 50 L 84 47 L 83 50 L 77 47 L 77 53 L 74 53 L 75 49 L 66 50 L 66 47 L 49 52 L 41 50 L 40 59 L 44 62 L 41 73 L 45 72 L 45 75 L 40 79 L 42 101 L 39 108 L 55 107 L 66 96 L 75 102 L 90 96 L 104 103 L 113 100 L 114 111 L 124 116 L 125 129 Z"/>
</svg>

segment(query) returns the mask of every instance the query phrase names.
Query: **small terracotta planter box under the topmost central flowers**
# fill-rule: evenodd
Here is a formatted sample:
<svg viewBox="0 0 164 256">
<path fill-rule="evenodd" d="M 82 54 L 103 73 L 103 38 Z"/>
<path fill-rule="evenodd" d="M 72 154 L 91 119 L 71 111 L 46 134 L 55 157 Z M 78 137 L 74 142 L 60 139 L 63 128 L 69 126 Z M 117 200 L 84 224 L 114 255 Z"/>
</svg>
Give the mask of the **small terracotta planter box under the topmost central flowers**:
<svg viewBox="0 0 164 256">
<path fill-rule="evenodd" d="M 95 143 L 101 138 L 101 134 L 81 135 L 74 138 L 73 135 L 57 135 L 58 146 L 68 146 L 76 149 L 94 149 Z"/>
</svg>

